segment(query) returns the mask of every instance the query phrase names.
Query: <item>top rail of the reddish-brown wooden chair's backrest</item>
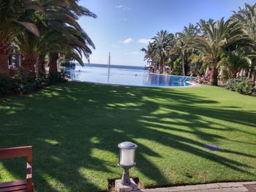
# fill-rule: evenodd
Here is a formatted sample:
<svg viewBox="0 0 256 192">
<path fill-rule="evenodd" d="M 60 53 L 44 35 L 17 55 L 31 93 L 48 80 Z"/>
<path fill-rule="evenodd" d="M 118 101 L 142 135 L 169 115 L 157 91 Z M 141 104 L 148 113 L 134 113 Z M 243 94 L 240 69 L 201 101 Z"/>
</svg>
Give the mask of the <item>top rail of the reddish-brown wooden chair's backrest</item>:
<svg viewBox="0 0 256 192">
<path fill-rule="evenodd" d="M 11 147 L 0 149 L 1 158 L 18 158 L 26 157 L 28 162 L 32 161 L 32 146 Z"/>
</svg>

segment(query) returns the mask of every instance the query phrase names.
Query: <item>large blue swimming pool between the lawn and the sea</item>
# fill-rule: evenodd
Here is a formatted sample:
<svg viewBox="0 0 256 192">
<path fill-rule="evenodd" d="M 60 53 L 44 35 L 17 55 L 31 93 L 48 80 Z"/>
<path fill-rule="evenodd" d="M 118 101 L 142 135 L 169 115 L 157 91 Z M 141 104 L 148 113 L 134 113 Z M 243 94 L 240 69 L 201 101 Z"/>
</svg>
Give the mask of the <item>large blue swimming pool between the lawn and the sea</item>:
<svg viewBox="0 0 256 192">
<path fill-rule="evenodd" d="M 148 74 L 144 69 L 124 69 L 98 66 L 75 66 L 75 69 L 66 68 L 72 80 L 81 82 L 97 82 L 114 85 L 135 85 L 150 87 L 184 87 L 192 85 L 189 77 Z"/>
</svg>

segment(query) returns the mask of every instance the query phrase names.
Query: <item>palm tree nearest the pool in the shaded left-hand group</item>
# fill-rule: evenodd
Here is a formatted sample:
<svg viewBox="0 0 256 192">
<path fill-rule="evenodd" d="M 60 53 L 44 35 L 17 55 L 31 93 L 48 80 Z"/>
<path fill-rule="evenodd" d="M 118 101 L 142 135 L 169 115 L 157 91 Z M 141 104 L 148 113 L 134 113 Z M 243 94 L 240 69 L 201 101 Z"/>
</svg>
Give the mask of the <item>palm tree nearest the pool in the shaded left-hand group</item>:
<svg viewBox="0 0 256 192">
<path fill-rule="evenodd" d="M 55 44 L 56 47 L 52 47 L 50 50 L 50 72 L 54 72 L 57 69 L 56 61 L 59 59 L 59 53 L 69 55 L 77 60 L 81 65 L 83 65 L 82 53 L 87 59 L 89 59 L 89 55 L 91 54 L 89 46 L 95 49 L 94 43 L 91 41 L 91 38 L 88 36 L 88 34 L 86 34 L 85 31 L 83 31 L 82 28 L 80 28 L 76 20 L 78 20 L 78 18 L 80 18 L 81 16 L 97 18 L 97 15 L 95 15 L 89 9 L 86 9 L 86 7 L 78 5 L 78 0 L 69 0 L 69 4 L 70 5 L 68 7 L 64 7 L 64 13 L 66 13 L 67 11 L 68 14 L 70 14 L 71 18 L 73 18 L 73 20 L 68 23 L 69 26 L 73 26 L 73 28 L 66 28 L 66 26 L 64 26 L 64 28 L 61 28 L 61 31 L 59 31 L 59 25 L 57 25 L 58 28 L 54 28 L 53 33 L 56 32 L 58 34 L 58 32 L 61 32 L 64 35 L 62 35 L 61 37 L 65 38 L 60 39 L 62 40 L 62 42 L 60 42 L 59 45 Z M 61 10 L 62 8 L 63 7 L 61 7 Z M 59 10 L 58 12 L 56 12 L 56 14 L 59 15 Z M 55 16 L 53 16 L 53 18 L 55 18 Z M 53 26 L 56 26 L 56 23 L 53 23 Z M 70 34 L 71 31 L 72 33 Z"/>
</svg>

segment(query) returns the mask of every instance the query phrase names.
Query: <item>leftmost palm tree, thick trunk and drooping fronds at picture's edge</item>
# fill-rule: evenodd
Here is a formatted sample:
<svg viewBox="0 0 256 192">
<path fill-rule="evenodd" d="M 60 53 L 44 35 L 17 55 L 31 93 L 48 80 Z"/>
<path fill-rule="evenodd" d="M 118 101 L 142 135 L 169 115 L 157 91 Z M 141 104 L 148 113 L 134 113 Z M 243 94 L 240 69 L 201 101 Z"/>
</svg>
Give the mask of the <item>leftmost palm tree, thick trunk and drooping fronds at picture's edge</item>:
<svg viewBox="0 0 256 192">
<path fill-rule="evenodd" d="M 38 1 L 29 0 L 0 0 L 0 73 L 9 74 L 8 57 L 11 51 L 13 38 L 20 30 L 39 36 L 34 23 L 29 23 L 31 10 L 42 11 Z"/>
</svg>

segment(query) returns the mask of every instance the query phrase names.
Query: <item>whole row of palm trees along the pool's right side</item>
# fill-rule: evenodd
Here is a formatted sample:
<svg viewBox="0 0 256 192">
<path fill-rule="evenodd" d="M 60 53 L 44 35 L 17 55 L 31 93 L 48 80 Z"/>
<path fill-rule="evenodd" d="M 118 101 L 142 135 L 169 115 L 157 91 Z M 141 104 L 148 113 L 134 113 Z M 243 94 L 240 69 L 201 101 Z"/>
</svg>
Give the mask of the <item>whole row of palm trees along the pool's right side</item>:
<svg viewBox="0 0 256 192">
<path fill-rule="evenodd" d="M 172 34 L 159 31 L 148 42 L 145 60 L 153 72 L 209 74 L 210 85 L 238 76 L 256 79 L 256 4 L 245 4 L 224 20 L 200 20 Z"/>
</svg>

